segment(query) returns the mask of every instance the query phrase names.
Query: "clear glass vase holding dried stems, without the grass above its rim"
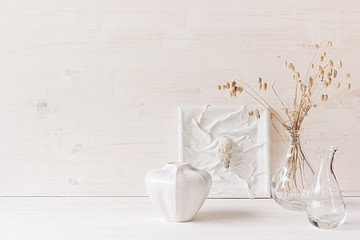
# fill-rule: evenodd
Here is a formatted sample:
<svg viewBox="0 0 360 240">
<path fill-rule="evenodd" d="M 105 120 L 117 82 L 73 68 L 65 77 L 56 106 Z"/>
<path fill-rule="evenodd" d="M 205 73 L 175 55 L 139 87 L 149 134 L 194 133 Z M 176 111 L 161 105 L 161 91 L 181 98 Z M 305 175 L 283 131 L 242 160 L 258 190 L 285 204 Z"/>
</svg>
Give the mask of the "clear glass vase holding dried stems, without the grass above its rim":
<svg viewBox="0 0 360 240">
<path fill-rule="evenodd" d="M 287 151 L 271 181 L 272 197 L 285 209 L 306 211 L 315 172 L 301 149 L 301 130 L 287 133 Z"/>
</svg>

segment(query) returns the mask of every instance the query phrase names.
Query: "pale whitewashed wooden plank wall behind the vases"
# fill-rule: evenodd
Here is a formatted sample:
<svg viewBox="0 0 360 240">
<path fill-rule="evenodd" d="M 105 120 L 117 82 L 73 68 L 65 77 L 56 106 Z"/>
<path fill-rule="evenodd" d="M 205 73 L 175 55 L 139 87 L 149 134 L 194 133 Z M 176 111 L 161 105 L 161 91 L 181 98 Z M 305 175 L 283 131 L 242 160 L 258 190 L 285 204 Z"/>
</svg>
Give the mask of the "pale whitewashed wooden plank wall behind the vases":
<svg viewBox="0 0 360 240">
<path fill-rule="evenodd" d="M 360 196 L 359 1 L 0 0 L 0 195 L 146 195 L 145 173 L 177 160 L 178 105 L 254 104 L 216 90 L 239 76 L 286 97 L 276 56 L 304 71 L 322 40 L 353 88 L 311 112 L 304 149 L 316 163 L 338 145 L 340 186 Z"/>
</svg>

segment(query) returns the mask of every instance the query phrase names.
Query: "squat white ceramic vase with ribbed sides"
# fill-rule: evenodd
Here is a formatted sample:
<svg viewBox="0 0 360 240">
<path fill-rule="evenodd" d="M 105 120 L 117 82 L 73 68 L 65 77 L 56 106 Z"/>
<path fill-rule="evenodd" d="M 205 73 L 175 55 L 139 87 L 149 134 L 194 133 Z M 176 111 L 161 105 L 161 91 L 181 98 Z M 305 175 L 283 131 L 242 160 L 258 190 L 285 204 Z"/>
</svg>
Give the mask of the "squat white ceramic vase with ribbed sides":
<svg viewBox="0 0 360 240">
<path fill-rule="evenodd" d="M 154 207 L 171 222 L 190 221 L 205 202 L 211 176 L 185 162 L 169 162 L 145 177 Z"/>
</svg>

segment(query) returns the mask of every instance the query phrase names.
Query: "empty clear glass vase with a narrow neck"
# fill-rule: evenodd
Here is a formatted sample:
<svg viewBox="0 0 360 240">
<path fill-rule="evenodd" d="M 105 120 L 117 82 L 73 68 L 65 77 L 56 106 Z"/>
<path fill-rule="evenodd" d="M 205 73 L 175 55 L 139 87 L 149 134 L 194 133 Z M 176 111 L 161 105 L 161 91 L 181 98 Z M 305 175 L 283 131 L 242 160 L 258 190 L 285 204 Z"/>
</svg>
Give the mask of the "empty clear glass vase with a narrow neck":
<svg viewBox="0 0 360 240">
<path fill-rule="evenodd" d="M 346 207 L 333 171 L 337 147 L 321 150 L 321 165 L 311 188 L 307 215 L 315 227 L 332 229 L 344 223 Z"/>
</svg>

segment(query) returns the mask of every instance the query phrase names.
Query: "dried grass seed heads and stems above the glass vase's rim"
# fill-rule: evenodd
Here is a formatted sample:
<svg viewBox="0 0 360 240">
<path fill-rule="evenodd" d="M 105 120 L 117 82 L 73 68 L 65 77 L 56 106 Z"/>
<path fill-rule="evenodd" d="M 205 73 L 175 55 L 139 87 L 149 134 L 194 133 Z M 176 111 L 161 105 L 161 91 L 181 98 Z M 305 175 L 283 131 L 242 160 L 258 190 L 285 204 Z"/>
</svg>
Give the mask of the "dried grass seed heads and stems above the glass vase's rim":
<svg viewBox="0 0 360 240">
<path fill-rule="evenodd" d="M 293 61 L 289 59 L 284 61 L 284 67 L 290 71 L 290 76 L 295 81 L 294 99 L 291 101 L 291 106 L 286 106 L 280 98 L 274 87 L 275 82 L 271 85 L 271 89 L 281 104 L 281 109 L 286 116 L 285 119 L 261 96 L 261 91 L 268 90 L 268 83 L 261 77 L 258 78 L 258 90 L 242 80 L 226 82 L 223 85 L 218 85 L 218 89 L 228 90 L 231 97 L 236 97 L 242 92 L 247 93 L 264 106 L 270 112 L 272 119 L 276 119 L 286 130 L 299 130 L 310 109 L 317 107 L 317 98 L 320 96 L 321 101 L 328 101 L 327 92 L 331 85 L 335 85 L 336 89 L 340 89 L 341 86 L 345 86 L 347 91 L 351 89 L 349 82 L 343 84 L 349 80 L 350 73 L 347 73 L 343 78 L 339 77 L 339 72 L 343 67 L 342 61 L 338 60 L 338 64 L 335 65 L 334 62 L 336 61 L 329 59 L 326 51 L 322 51 L 320 54 L 320 50 L 332 45 L 331 41 L 314 44 L 316 51 L 304 75 L 296 70 Z M 283 57 L 279 56 L 279 58 L 282 59 Z M 278 131 L 278 129 L 276 130 Z"/>
</svg>

